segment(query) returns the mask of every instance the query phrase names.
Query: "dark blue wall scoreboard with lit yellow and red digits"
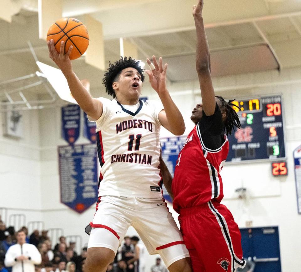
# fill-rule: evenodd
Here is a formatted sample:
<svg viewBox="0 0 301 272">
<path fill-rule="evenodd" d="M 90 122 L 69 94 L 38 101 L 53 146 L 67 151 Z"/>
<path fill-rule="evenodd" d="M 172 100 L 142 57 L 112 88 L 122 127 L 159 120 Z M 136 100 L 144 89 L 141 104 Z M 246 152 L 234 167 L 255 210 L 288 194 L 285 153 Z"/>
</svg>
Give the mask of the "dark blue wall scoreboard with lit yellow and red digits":
<svg viewBox="0 0 301 272">
<path fill-rule="evenodd" d="M 233 101 L 242 129 L 228 135 L 227 162 L 285 158 L 280 95 Z"/>
</svg>

